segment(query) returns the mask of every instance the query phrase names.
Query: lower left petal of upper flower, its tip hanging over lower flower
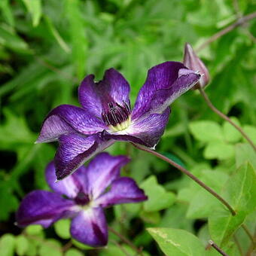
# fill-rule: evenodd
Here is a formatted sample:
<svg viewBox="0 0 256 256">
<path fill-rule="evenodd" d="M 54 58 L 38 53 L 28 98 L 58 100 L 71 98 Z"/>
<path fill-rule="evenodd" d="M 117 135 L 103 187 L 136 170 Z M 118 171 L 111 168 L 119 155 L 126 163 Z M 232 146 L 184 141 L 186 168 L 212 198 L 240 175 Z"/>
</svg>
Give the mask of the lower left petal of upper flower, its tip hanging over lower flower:
<svg viewBox="0 0 256 256">
<path fill-rule="evenodd" d="M 102 133 L 87 137 L 78 134 L 60 136 L 59 148 L 54 159 L 56 178 L 61 180 L 71 175 L 90 157 L 108 148 L 113 143 L 114 141 L 102 139 Z"/>
</svg>

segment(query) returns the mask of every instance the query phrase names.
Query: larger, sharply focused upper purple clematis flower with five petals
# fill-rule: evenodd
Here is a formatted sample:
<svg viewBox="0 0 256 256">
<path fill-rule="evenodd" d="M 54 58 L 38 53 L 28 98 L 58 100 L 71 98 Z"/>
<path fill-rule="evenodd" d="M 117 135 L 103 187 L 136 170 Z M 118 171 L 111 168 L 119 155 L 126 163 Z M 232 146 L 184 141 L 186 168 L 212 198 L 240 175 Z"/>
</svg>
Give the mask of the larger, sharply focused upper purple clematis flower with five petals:
<svg viewBox="0 0 256 256">
<path fill-rule="evenodd" d="M 130 85 L 119 72 L 108 69 L 99 82 L 87 75 L 78 90 L 82 108 L 59 105 L 50 111 L 37 142 L 59 141 L 54 160 L 58 180 L 115 141 L 154 148 L 168 123 L 169 105 L 199 79 L 181 62 L 154 66 L 132 110 Z"/>
</svg>

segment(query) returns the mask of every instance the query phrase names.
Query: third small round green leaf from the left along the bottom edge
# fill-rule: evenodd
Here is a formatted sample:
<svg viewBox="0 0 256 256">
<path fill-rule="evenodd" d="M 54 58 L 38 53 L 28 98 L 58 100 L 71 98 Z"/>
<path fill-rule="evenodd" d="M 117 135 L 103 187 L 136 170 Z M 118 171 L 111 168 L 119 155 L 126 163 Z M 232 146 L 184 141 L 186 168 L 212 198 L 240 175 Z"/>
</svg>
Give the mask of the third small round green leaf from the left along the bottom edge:
<svg viewBox="0 0 256 256">
<path fill-rule="evenodd" d="M 62 256 L 61 245 L 55 239 L 47 239 L 41 242 L 38 254 L 40 256 Z"/>
</svg>

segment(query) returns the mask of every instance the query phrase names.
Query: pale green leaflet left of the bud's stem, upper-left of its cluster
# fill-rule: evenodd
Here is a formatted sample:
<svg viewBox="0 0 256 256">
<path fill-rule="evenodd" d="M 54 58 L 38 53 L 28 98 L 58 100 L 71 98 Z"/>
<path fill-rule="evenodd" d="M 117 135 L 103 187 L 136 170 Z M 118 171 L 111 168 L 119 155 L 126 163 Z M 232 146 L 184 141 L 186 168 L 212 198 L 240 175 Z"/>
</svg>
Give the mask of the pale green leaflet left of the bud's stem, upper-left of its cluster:
<svg viewBox="0 0 256 256">
<path fill-rule="evenodd" d="M 210 120 L 191 122 L 190 132 L 200 142 L 222 141 L 224 139 L 221 126 Z"/>
</svg>

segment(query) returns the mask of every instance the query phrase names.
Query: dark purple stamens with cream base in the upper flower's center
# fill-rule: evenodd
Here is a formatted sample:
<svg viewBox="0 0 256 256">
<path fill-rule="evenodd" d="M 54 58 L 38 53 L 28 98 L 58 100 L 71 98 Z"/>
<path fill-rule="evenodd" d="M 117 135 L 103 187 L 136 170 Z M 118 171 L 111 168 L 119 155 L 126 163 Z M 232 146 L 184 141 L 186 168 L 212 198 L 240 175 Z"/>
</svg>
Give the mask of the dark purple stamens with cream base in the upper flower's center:
<svg viewBox="0 0 256 256">
<path fill-rule="evenodd" d="M 102 119 L 107 126 L 114 132 L 126 129 L 130 125 L 131 105 L 123 102 L 119 105 L 117 102 L 108 103 L 108 108 L 102 113 Z"/>
</svg>

